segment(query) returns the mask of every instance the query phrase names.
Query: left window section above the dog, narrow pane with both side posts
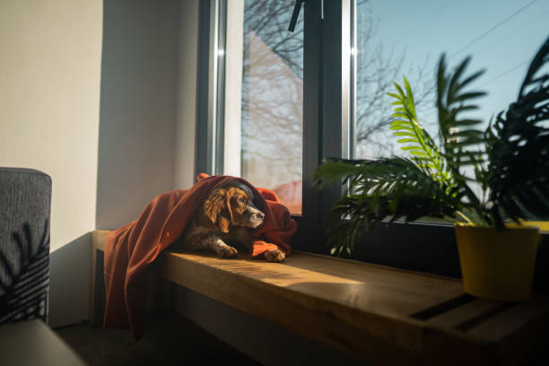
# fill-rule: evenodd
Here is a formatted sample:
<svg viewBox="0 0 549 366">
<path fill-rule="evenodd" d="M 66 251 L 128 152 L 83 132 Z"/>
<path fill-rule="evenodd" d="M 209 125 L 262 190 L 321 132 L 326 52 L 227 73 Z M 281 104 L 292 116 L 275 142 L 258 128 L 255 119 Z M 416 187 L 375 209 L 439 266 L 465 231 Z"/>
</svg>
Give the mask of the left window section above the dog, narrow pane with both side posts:
<svg viewBox="0 0 549 366">
<path fill-rule="evenodd" d="M 274 189 L 315 251 L 341 187 L 318 192 L 312 173 L 349 156 L 350 4 L 307 2 L 290 33 L 292 0 L 200 3 L 196 172 Z"/>
</svg>

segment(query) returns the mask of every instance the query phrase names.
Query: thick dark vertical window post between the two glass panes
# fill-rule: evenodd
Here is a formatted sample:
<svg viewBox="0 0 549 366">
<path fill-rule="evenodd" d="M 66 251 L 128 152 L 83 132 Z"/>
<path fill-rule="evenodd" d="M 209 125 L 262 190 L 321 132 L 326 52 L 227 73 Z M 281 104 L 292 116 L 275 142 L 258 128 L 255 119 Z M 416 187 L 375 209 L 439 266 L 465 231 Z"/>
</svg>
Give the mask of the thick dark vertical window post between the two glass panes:
<svg viewBox="0 0 549 366">
<path fill-rule="evenodd" d="M 324 4 L 323 4 L 324 3 Z M 324 159 L 349 158 L 351 28 L 348 14 L 352 1 L 312 1 L 302 9 L 303 45 L 303 178 L 302 215 L 294 247 L 327 253 L 324 213 L 342 196 L 338 183 L 322 189 L 313 173 Z M 323 7 L 323 9 L 322 9 Z M 344 46 L 344 43 L 346 46 Z"/>
</svg>

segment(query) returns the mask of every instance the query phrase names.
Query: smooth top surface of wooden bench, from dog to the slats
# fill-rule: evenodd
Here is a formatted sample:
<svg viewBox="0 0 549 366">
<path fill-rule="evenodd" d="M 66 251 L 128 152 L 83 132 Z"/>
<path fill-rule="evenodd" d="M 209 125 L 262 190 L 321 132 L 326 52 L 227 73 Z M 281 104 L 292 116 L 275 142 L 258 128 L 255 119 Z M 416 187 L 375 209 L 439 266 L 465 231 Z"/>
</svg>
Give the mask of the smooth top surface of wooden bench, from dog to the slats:
<svg viewBox="0 0 549 366">
<path fill-rule="evenodd" d="M 386 316 L 407 318 L 463 293 L 459 281 L 301 252 L 293 253 L 282 264 L 248 257 L 228 260 L 196 253 L 165 255 Z"/>
</svg>

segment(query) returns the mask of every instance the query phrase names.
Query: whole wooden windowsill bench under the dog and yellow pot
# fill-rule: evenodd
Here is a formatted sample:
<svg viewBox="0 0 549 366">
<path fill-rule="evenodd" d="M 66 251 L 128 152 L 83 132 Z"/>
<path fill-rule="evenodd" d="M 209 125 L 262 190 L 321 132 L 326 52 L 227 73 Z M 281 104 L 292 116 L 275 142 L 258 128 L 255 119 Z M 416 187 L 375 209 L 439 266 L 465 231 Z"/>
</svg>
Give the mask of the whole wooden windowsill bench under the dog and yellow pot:
<svg viewBox="0 0 549 366">
<path fill-rule="evenodd" d="M 93 232 L 94 249 L 107 232 Z M 518 364 L 547 344 L 546 295 L 484 301 L 454 279 L 304 252 L 282 264 L 173 251 L 159 261 L 172 283 L 374 363 Z"/>
</svg>

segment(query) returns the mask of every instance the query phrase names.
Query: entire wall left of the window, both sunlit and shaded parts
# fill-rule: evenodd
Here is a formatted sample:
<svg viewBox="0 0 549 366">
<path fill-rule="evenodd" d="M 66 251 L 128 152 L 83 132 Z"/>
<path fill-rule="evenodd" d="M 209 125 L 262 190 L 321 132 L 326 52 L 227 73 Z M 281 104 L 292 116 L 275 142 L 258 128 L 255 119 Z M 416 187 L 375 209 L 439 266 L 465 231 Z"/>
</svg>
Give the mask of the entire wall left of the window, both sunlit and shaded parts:
<svg viewBox="0 0 549 366">
<path fill-rule="evenodd" d="M 52 177 L 54 327 L 88 317 L 90 231 L 192 185 L 197 14 L 198 0 L 0 0 L 0 166 Z"/>
</svg>

